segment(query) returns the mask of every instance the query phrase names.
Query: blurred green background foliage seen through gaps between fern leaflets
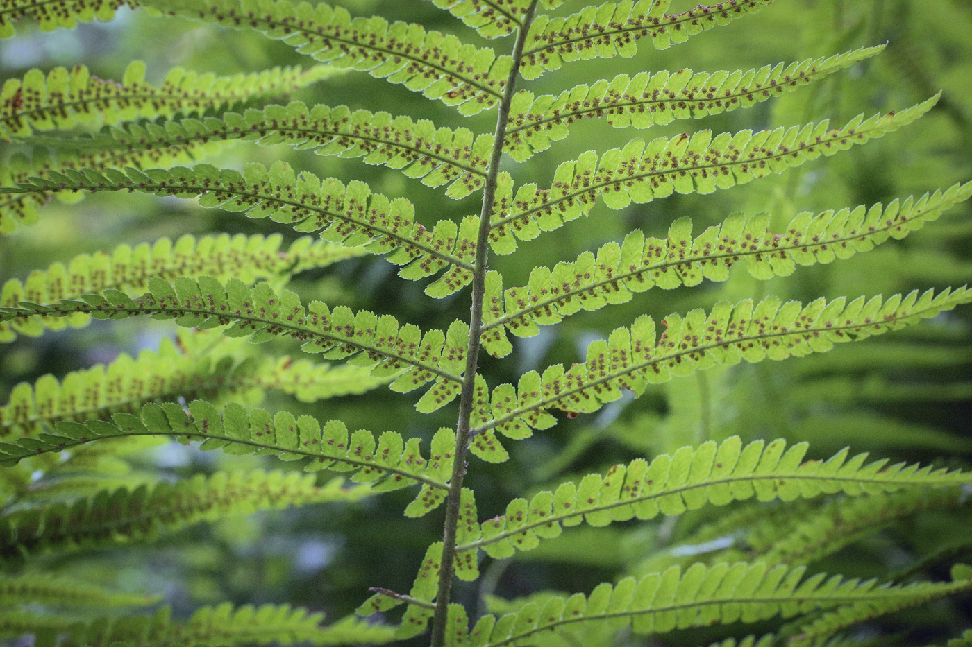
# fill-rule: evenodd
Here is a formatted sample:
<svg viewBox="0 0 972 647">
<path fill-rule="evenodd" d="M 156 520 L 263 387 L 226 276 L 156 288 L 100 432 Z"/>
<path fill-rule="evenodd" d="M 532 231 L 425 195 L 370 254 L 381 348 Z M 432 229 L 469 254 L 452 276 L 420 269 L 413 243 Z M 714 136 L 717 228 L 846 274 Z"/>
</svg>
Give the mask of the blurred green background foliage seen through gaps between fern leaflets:
<svg viewBox="0 0 972 647">
<path fill-rule="evenodd" d="M 422 22 L 470 41 L 476 39 L 429 2 L 343 0 L 338 4 L 355 14 Z M 568 2 L 565 9 L 579 4 Z M 693 5 L 677 0 L 673 9 Z M 696 232 L 701 232 L 733 212 L 765 211 L 772 215 L 774 230 L 781 230 L 801 211 L 887 202 L 972 179 L 972 5 L 967 0 L 781 1 L 756 16 L 705 32 L 670 50 L 642 47 L 634 59 L 577 63 L 545 75 L 530 89 L 536 94 L 557 93 L 577 83 L 642 70 L 747 69 L 885 42 L 886 51 L 876 58 L 746 111 L 698 122 L 676 121 L 638 133 L 612 129 L 597 119 L 585 120 L 573 126 L 569 139 L 547 152 L 522 165 L 507 158 L 504 167 L 518 181 L 543 186 L 559 161 L 590 149 L 605 151 L 633 136 L 671 136 L 698 128 L 736 131 L 828 118 L 843 124 L 859 113 L 902 109 L 944 90 L 937 107 L 916 124 L 850 152 L 712 195 L 673 195 L 620 212 L 601 205 L 589 218 L 522 243 L 516 255 L 494 255 L 491 265 L 503 273 L 507 287 L 523 285 L 536 265 L 573 259 L 581 251 L 620 240 L 636 227 L 662 235 L 681 216 L 690 216 Z M 501 51 L 510 47 L 506 41 L 492 45 Z M 150 82 L 160 81 L 173 66 L 231 74 L 310 62 L 290 47 L 256 33 L 123 11 L 112 22 L 82 25 L 72 31 L 40 33 L 25 25 L 17 37 L 0 43 L 0 76 L 20 77 L 31 67 L 47 70 L 83 62 L 96 76 L 120 79 L 132 59 L 147 62 Z M 494 126 L 488 114 L 461 120 L 454 111 L 400 85 L 356 73 L 339 74 L 289 98 L 308 104 L 385 109 L 439 124 L 462 124 L 479 132 L 491 132 Z M 320 157 L 286 146 L 237 144 L 207 161 L 240 168 L 247 161 L 269 164 L 278 158 L 320 176 L 361 179 L 375 191 L 407 195 L 416 205 L 419 221 L 426 225 L 478 213 L 477 196 L 452 201 L 438 190 L 408 183 L 396 171 L 365 166 L 359 159 Z M 636 294 L 624 305 L 582 313 L 544 328 L 537 337 L 515 340 L 513 358 L 484 358 L 482 371 L 496 385 L 550 363 L 577 361 L 591 339 L 642 313 L 661 319 L 671 312 L 708 308 L 721 299 L 768 294 L 806 301 L 820 295 L 888 295 L 962 285 L 972 278 L 970 216 L 972 205 L 966 203 L 904 241 L 889 241 L 850 260 L 798 268 L 792 276 L 770 282 L 755 281 L 745 267 L 737 267 L 726 283 Z M 139 193 L 97 194 L 78 205 L 52 203 L 43 210 L 38 225 L 0 238 L 0 279 L 22 278 L 31 268 L 121 243 L 134 245 L 163 236 L 175 239 L 183 233 L 215 231 L 276 231 L 294 237 L 293 231 L 272 221 L 204 210 L 189 200 Z M 442 328 L 454 319 L 468 319 L 468 290 L 436 301 L 426 297 L 422 288 L 399 280 L 395 268 L 377 257 L 346 260 L 326 271 L 300 275 L 293 286 L 306 298 L 391 313 L 403 323 L 419 323 L 424 328 Z M 850 445 L 852 450 L 873 450 L 896 460 L 937 459 L 943 464 L 967 465 L 972 458 L 970 323 L 972 311 L 965 308 L 822 356 L 717 368 L 679 379 L 649 389 L 638 401 L 624 398 L 597 416 L 564 421 L 529 441 L 509 443 L 511 460 L 500 465 L 473 461 L 468 483 L 477 493 L 480 516 L 485 519 L 499 514 L 515 496 L 603 470 L 617 461 L 650 457 L 732 434 L 744 440 L 778 436 L 808 440 L 815 457 Z M 6 401 L 17 382 L 33 382 L 45 373 L 62 376 L 110 361 L 122 352 L 134 355 L 142 349 L 155 349 L 162 337 L 174 334 L 171 323 L 139 320 L 100 322 L 37 339 L 18 338 L 0 347 L 0 401 Z M 274 343 L 283 353 L 296 352 L 287 344 Z M 290 401 L 284 395 L 273 397 L 279 399 L 268 395 L 264 406 L 336 418 L 351 428 L 392 429 L 406 436 L 430 437 L 438 426 L 455 424 L 451 407 L 430 417 L 419 416 L 412 410 L 411 396 L 381 389 L 317 404 Z M 261 461 L 168 444 L 133 454 L 116 469 L 121 480 L 137 481 L 147 475 L 177 478 Z M 403 519 L 401 508 L 408 495 L 395 493 L 355 505 L 313 506 L 233 519 L 190 528 L 147 546 L 50 558 L 50 565 L 113 587 L 148 587 L 164 594 L 177 611 L 219 600 L 290 602 L 327 610 L 336 618 L 360 603 L 368 586 L 397 591 L 410 587 L 425 547 L 440 535 L 441 512 L 421 520 Z M 619 573 L 671 562 L 677 551 L 658 551 L 677 546 L 690 529 L 706 521 L 712 521 L 711 517 L 688 514 L 677 523 L 575 528 L 537 550 L 518 553 L 511 561 L 485 564 L 484 577 L 472 585 L 461 584 L 457 595 L 470 608 L 478 605 L 485 610 L 489 604 L 502 607 L 502 600 L 491 596 L 525 596 L 543 589 L 586 591 Z M 945 567 L 944 562 L 925 558 L 949 548 L 958 559 L 972 559 L 969 522 L 968 511 L 961 508 L 947 514 L 923 514 L 893 528 L 875 529 L 811 567 L 872 576 L 918 564 L 925 574 L 940 575 L 935 569 Z M 967 626 L 967 608 L 942 603 L 922 610 L 924 622 L 942 633 L 913 631 L 908 639 L 921 644 L 922 639 L 949 635 L 950 626 Z M 892 616 L 885 623 L 892 630 L 914 626 L 907 615 Z M 709 637 L 704 632 L 675 633 L 665 644 L 698 644 Z"/>
</svg>

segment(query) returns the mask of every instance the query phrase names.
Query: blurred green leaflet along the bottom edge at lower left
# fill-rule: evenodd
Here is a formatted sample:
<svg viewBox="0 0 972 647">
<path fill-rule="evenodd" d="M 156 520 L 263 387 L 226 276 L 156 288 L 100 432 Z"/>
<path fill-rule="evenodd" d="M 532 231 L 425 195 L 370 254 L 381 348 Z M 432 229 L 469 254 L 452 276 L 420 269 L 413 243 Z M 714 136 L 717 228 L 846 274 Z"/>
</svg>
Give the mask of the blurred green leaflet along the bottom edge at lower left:
<svg viewBox="0 0 972 647">
<path fill-rule="evenodd" d="M 0 635 L 17 637 L 35 633 L 37 647 L 361 645 L 390 642 L 395 635 L 390 627 L 369 625 L 353 617 L 330 626 L 322 626 L 322 620 L 323 613 L 308 613 L 306 609 L 286 604 L 206 606 L 197 609 L 185 622 L 174 621 L 167 606 L 151 616 L 106 616 L 85 621 L 3 611 L 0 612 Z M 55 641 L 53 636 L 57 634 L 62 639 Z"/>
</svg>

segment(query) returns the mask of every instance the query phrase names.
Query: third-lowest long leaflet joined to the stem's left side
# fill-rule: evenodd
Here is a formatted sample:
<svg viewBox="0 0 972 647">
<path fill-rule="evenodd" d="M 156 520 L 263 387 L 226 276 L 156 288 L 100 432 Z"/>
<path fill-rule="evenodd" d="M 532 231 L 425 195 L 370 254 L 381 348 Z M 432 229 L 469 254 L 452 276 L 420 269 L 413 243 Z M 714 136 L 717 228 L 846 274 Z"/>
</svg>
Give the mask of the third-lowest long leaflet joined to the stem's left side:
<svg viewBox="0 0 972 647">
<path fill-rule="evenodd" d="M 246 212 L 249 218 L 289 223 L 297 231 L 324 229 L 321 236 L 346 247 L 364 247 L 384 254 L 390 262 L 404 265 L 399 276 L 410 280 L 449 269 L 428 287 L 434 296 L 462 289 L 472 280 L 478 218 L 460 224 L 442 220 L 428 230 L 415 221 L 415 208 L 404 198 L 390 199 L 372 193 L 363 182 L 347 185 L 310 173 L 295 173 L 283 161 L 269 169 L 247 164 L 243 173 L 209 164 L 192 168 L 105 168 L 101 172 L 72 169 L 51 171 L 46 178 L 30 178 L 2 193 L 49 193 L 52 190 L 139 190 L 156 195 L 199 196 L 205 207 Z M 2 216 L 2 214 L 0 214 Z"/>
</svg>

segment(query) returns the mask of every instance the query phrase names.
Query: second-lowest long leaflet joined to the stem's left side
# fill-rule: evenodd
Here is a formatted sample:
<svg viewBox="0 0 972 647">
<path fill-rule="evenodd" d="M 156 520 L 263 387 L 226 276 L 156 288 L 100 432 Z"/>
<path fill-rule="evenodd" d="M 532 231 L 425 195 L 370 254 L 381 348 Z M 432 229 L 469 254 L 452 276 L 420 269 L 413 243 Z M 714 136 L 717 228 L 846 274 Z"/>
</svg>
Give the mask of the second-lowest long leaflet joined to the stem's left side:
<svg viewBox="0 0 972 647">
<path fill-rule="evenodd" d="M 399 327 L 390 315 L 379 317 L 365 310 L 356 314 L 345 306 L 331 311 L 321 301 L 312 301 L 305 309 L 290 290 L 278 294 L 265 283 L 251 289 L 236 279 L 224 285 L 206 276 L 198 281 L 180 277 L 174 284 L 153 278 L 149 289 L 135 299 L 105 289 L 103 295 L 85 294 L 80 301 L 48 306 L 23 301 L 17 308 L 0 308 L 0 322 L 85 313 L 94 319 L 151 315 L 153 319 L 173 319 L 183 327 L 229 325 L 223 330 L 227 337 L 250 336 L 254 343 L 290 337 L 302 342 L 301 348 L 308 353 L 324 353 L 329 359 L 355 356 L 352 363 L 373 366 L 375 377 L 397 376 L 392 389 L 399 392 L 435 381 L 434 388 L 419 401 L 421 410 L 432 411 L 459 394 L 469 336 L 466 323 L 456 321 L 446 333 L 430 330 L 423 335 L 415 325 Z M 435 406 L 427 408 L 433 402 Z"/>
</svg>

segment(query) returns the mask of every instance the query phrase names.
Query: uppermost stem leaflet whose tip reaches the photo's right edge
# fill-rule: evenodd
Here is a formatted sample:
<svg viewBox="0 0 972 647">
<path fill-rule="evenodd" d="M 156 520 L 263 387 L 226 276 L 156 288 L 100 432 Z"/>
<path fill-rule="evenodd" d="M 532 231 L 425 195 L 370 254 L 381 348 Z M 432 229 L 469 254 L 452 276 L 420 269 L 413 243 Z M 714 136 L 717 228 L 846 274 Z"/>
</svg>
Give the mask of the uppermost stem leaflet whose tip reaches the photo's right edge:
<svg viewBox="0 0 972 647">
<path fill-rule="evenodd" d="M 503 326 L 517 336 L 536 335 L 539 325 L 558 323 L 580 310 L 597 310 L 623 303 L 632 292 L 652 287 L 675 289 L 703 280 L 725 281 L 729 267 L 746 261 L 757 279 L 786 276 L 796 264 L 827 263 L 866 252 L 889 237 L 901 239 L 936 220 L 942 212 L 972 196 L 972 183 L 955 185 L 944 193 L 909 196 L 867 208 L 804 212 L 784 233 L 767 229 L 766 214 L 746 219 L 730 216 L 701 235 L 692 237 L 692 222 L 679 219 L 667 239 L 648 238 L 635 230 L 621 245 L 608 243 L 597 255 L 584 252 L 552 270 L 537 267 L 528 285 L 503 290 L 493 273 L 486 281 L 483 343 L 496 357 L 511 350 Z"/>
</svg>

